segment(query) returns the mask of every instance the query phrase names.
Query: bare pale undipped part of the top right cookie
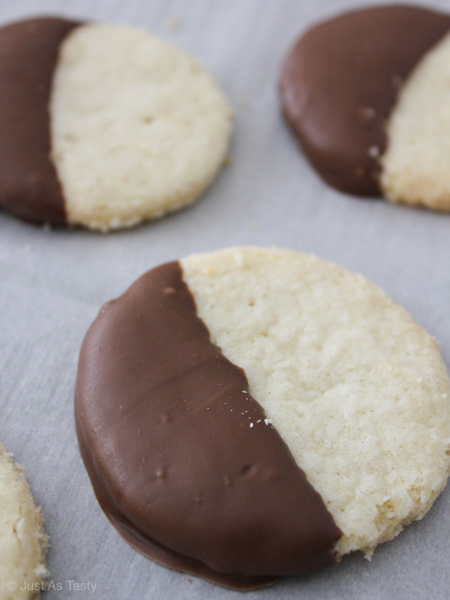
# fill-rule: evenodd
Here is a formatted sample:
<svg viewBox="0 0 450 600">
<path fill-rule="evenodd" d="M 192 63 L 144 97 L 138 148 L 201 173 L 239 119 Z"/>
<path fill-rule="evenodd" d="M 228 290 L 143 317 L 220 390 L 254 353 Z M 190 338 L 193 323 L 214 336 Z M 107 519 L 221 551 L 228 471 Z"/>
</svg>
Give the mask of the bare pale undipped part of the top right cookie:
<svg viewBox="0 0 450 600">
<path fill-rule="evenodd" d="M 388 121 L 380 183 L 392 202 L 450 211 L 450 34 L 407 79 Z"/>
</svg>

